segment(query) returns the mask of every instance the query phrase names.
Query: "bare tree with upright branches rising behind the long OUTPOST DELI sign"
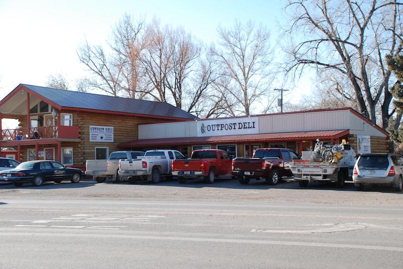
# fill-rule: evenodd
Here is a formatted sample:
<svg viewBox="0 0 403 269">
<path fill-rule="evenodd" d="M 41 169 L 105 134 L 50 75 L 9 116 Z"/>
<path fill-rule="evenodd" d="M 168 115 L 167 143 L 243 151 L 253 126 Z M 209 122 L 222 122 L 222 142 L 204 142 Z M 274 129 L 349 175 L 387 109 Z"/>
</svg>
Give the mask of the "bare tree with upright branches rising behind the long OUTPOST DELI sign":
<svg viewBox="0 0 403 269">
<path fill-rule="evenodd" d="M 219 27 L 218 35 L 219 46 L 213 51 L 224 78 L 217 85 L 236 101 L 237 106 L 229 106 L 230 114 L 250 115 L 253 104 L 269 94 L 270 34 L 252 21 L 235 21 L 231 28 Z"/>
</svg>

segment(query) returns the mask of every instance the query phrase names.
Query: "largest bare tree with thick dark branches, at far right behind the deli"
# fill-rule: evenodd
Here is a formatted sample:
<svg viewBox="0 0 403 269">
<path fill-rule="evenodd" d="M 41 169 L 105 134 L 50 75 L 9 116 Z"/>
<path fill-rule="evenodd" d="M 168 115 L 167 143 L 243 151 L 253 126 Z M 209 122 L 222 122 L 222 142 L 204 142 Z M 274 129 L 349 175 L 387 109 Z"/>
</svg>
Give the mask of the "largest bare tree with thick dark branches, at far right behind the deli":
<svg viewBox="0 0 403 269">
<path fill-rule="evenodd" d="M 287 71 L 298 75 L 304 67 L 315 68 L 373 123 L 379 104 L 386 128 L 394 110 L 389 110 L 391 72 L 384 57 L 402 50 L 401 5 L 396 0 L 289 0 L 286 9 L 293 16 L 286 34 L 294 45 L 286 49 Z"/>
</svg>

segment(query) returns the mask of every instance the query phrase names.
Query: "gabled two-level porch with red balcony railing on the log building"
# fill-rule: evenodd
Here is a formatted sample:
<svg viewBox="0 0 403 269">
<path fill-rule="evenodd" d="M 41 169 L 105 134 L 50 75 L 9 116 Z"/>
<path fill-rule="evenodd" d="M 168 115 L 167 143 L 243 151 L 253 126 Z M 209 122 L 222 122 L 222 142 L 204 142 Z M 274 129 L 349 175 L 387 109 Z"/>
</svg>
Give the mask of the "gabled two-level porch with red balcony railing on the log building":
<svg viewBox="0 0 403 269">
<path fill-rule="evenodd" d="M 16 121 L 13 123 L 7 121 L 8 119 Z M 24 85 L 19 85 L 0 101 L 0 148 L 16 148 L 17 160 L 20 160 L 21 146 L 33 146 L 37 149 L 40 145 L 52 145 L 60 152 L 63 141 L 80 141 L 79 127 L 73 125 L 72 114 L 62 111 L 58 104 Z M 36 159 L 38 158 L 36 150 Z M 55 160 L 60 160 L 60 154 Z"/>
</svg>

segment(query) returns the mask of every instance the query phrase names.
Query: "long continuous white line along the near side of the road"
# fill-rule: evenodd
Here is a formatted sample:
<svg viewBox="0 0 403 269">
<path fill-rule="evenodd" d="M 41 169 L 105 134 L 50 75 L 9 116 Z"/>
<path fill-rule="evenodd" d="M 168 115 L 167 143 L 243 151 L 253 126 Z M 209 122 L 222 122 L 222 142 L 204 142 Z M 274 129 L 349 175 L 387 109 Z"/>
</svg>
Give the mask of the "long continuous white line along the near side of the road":
<svg viewBox="0 0 403 269">
<path fill-rule="evenodd" d="M 48 236 L 48 237 L 83 237 L 83 238 L 130 238 L 139 240 L 162 240 L 162 241 L 191 241 L 191 242 L 218 242 L 238 244 L 260 245 L 285 245 L 285 246 L 311 246 L 329 248 L 351 248 L 366 250 L 385 250 L 403 252 L 403 247 L 359 244 L 337 244 L 320 242 L 276 241 L 276 240 L 253 240 L 253 239 L 229 239 L 229 238 L 206 238 L 206 237 L 181 237 L 181 236 L 148 236 L 148 235 L 121 235 L 121 234 L 77 234 L 77 233 L 26 233 L 26 232 L 0 232 L 2 236 Z"/>
</svg>

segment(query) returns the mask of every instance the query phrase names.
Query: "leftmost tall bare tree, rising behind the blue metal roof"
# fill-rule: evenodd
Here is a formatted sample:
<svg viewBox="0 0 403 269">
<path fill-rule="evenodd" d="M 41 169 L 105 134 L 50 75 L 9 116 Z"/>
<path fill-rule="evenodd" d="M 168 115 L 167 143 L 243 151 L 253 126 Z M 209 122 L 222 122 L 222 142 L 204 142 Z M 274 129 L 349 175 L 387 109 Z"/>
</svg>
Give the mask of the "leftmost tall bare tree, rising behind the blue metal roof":
<svg viewBox="0 0 403 269">
<path fill-rule="evenodd" d="M 113 41 L 107 49 L 88 42 L 82 44 L 77 54 L 94 78 L 86 83 L 95 89 L 113 96 L 144 98 L 147 94 L 142 84 L 140 53 L 144 48 L 143 32 L 145 22 L 134 23 L 124 15 L 113 30 Z"/>
</svg>

